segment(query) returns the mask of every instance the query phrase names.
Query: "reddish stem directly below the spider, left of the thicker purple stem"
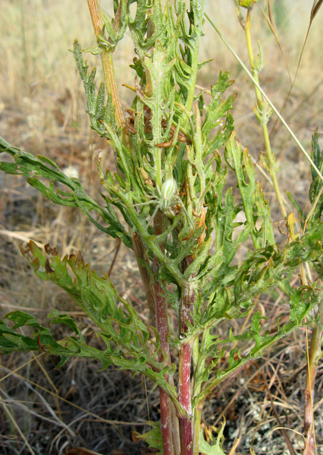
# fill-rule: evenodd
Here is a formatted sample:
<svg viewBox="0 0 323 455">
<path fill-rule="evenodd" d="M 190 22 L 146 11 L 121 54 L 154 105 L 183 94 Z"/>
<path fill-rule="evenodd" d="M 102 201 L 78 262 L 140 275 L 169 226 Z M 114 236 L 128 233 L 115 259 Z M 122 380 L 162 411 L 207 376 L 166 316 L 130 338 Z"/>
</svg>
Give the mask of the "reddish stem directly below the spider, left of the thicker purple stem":
<svg viewBox="0 0 323 455">
<path fill-rule="evenodd" d="M 164 215 L 160 211 L 157 212 L 154 223 L 154 235 L 158 236 L 164 232 L 165 223 Z M 159 245 L 163 249 L 163 245 Z M 164 296 L 164 291 L 161 282 L 158 280 L 158 269 L 160 267 L 159 260 L 156 256 L 153 258 L 153 272 L 154 272 L 154 287 L 155 287 L 155 300 L 156 300 L 156 328 L 159 335 L 159 354 L 158 360 L 163 361 L 165 366 L 170 366 L 170 348 L 168 342 L 169 325 L 168 325 L 168 312 L 167 300 Z M 169 382 L 168 375 L 165 379 Z M 161 423 L 161 436 L 163 438 L 163 452 L 164 455 L 174 455 L 173 437 L 172 437 L 172 403 L 167 393 L 159 387 L 160 399 L 160 423 Z"/>
</svg>

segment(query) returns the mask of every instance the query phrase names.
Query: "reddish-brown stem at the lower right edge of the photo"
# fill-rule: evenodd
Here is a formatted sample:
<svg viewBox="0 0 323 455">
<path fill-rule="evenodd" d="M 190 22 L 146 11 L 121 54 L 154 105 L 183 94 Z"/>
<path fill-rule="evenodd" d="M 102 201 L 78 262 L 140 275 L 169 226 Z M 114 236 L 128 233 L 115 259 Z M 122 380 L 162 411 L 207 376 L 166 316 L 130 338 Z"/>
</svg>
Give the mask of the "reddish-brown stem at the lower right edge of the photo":
<svg viewBox="0 0 323 455">
<path fill-rule="evenodd" d="M 314 385 L 317 370 L 317 360 L 321 353 L 321 341 L 323 335 L 323 302 L 318 304 L 318 314 L 316 321 L 312 322 L 311 345 L 308 353 L 308 366 L 306 376 L 306 386 L 304 391 L 304 436 L 305 449 L 303 455 L 312 455 L 314 453 L 314 428 L 313 428 L 313 401 Z"/>
</svg>

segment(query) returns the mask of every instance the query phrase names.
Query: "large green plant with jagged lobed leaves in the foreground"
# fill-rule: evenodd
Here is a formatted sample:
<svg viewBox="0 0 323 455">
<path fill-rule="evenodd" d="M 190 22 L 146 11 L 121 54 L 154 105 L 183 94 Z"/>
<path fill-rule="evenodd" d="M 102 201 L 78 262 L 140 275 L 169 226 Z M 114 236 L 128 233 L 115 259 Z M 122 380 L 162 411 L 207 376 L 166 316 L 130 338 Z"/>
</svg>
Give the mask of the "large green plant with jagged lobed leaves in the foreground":
<svg viewBox="0 0 323 455">
<path fill-rule="evenodd" d="M 97 326 L 96 335 L 105 347 L 87 345 L 75 321 L 58 310 L 49 313 L 50 325 L 64 324 L 73 336 L 55 340 L 35 317 L 14 311 L 6 315 L 15 323 L 13 327 L 0 322 L 0 346 L 4 353 L 44 350 L 60 355 L 57 368 L 71 356 L 83 356 L 100 360 L 102 369 L 115 365 L 142 373 L 159 387 L 161 425 L 141 438 L 165 455 L 219 455 L 224 453 L 223 428 L 212 445 L 204 440 L 200 430 L 203 403 L 222 381 L 299 328 L 321 301 L 322 291 L 315 283 L 293 289 L 290 278 L 302 263 L 320 270 L 323 224 L 316 217 L 301 238 L 278 247 L 270 207 L 256 183 L 248 150 L 242 150 L 234 131 L 229 111 L 236 94 L 222 100 L 233 81 L 220 71 L 207 106 L 203 92 L 195 95 L 197 71 L 208 63 L 198 63 L 205 0 L 178 0 L 174 6 L 166 2 L 165 7 L 159 0 L 115 0 L 113 20 L 99 13 L 96 0 L 88 4 L 97 46 L 87 52 L 100 55 L 104 74 L 97 94 L 95 69 L 88 72 L 78 41 L 73 55 L 91 127 L 116 153 L 118 172 L 114 174 L 109 169 L 104 172 L 97 158 L 104 204 L 90 198 L 79 181 L 68 177 L 55 162 L 11 147 L 3 139 L 0 151 L 10 154 L 14 162 L 1 162 L 0 169 L 24 175 L 57 204 L 79 207 L 98 229 L 134 249 L 152 330 L 131 302 L 118 295 L 108 276 L 98 277 L 85 264 L 81 253 L 61 259 L 56 249 L 46 245 L 45 255 L 30 241 L 22 253 L 35 274 L 72 296 Z M 130 12 L 131 5 L 136 6 L 135 14 Z M 127 27 L 136 57 L 131 65 L 134 86 L 129 86 L 134 100 L 125 119 L 113 52 Z M 238 201 L 232 188 L 225 191 L 228 169 L 219 153 L 223 147 L 226 163 L 236 176 Z M 50 183 L 46 185 L 44 178 Z M 65 185 L 66 191 L 56 183 Z M 245 223 L 236 221 L 240 211 L 245 213 Z M 249 253 L 240 266 L 233 265 L 242 244 L 248 245 Z M 230 324 L 245 317 L 253 311 L 257 295 L 277 286 L 289 299 L 288 324 L 281 327 L 278 320 L 275 334 L 263 333 L 263 317 L 256 311 L 249 330 L 239 334 L 230 330 L 225 339 L 220 338 L 221 322 Z M 169 307 L 178 314 L 178 336 L 170 335 Z M 33 336 L 17 331 L 23 326 L 32 327 Z M 246 340 L 242 353 L 240 347 L 246 346 Z M 230 349 L 232 344 L 238 345 Z M 221 368 L 220 359 L 227 350 L 228 363 Z M 178 353 L 178 363 L 171 362 L 171 351 Z"/>
</svg>

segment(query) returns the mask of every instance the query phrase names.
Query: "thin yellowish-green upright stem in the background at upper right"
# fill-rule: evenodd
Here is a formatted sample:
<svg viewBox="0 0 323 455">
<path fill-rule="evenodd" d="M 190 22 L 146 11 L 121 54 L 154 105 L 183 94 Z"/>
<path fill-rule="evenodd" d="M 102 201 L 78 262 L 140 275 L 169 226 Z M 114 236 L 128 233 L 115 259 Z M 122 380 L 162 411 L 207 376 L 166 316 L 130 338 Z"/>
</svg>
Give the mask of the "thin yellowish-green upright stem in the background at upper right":
<svg viewBox="0 0 323 455">
<path fill-rule="evenodd" d="M 259 85 L 258 71 L 256 69 L 253 51 L 252 51 L 250 29 L 251 29 L 250 10 L 248 10 L 246 24 L 245 24 L 245 35 L 246 35 L 247 48 L 248 48 L 252 75 L 253 75 L 254 79 L 256 80 L 257 84 Z M 256 93 L 256 98 L 257 98 L 257 104 L 258 104 L 258 107 L 260 108 L 263 105 L 263 101 L 261 99 L 261 94 L 256 85 L 254 86 L 254 88 L 255 88 L 255 93 Z M 261 127 L 262 127 L 262 134 L 263 134 L 263 140 L 264 140 L 264 147 L 265 147 L 265 151 L 266 151 L 268 170 L 272 177 L 273 187 L 274 187 L 274 191 L 275 191 L 275 194 L 277 197 L 277 202 L 278 202 L 278 205 L 282 212 L 282 215 L 284 216 L 285 219 L 287 219 L 287 212 L 286 212 L 284 201 L 283 201 L 281 191 L 280 191 L 280 188 L 278 185 L 278 180 L 277 180 L 277 175 L 276 175 L 276 170 L 275 170 L 275 158 L 274 158 L 272 148 L 271 148 L 267 123 L 265 121 L 263 121 L 261 123 Z"/>
</svg>

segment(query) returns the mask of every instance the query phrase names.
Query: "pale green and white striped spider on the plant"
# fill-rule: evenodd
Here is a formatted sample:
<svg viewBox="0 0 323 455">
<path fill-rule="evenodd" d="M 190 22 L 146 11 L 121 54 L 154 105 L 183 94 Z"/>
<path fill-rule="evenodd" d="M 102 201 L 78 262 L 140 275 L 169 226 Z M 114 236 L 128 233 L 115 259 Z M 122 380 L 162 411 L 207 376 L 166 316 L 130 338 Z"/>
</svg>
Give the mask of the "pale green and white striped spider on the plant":
<svg viewBox="0 0 323 455">
<path fill-rule="evenodd" d="M 182 201 L 182 199 L 179 197 L 178 192 L 177 192 L 177 187 L 176 183 L 172 178 L 168 178 L 167 180 L 164 181 L 163 185 L 161 185 L 161 188 L 159 190 L 158 185 L 156 185 L 158 197 L 155 200 L 149 201 L 149 202 L 142 202 L 140 204 L 136 204 L 135 206 L 139 205 L 148 205 L 151 204 L 151 202 L 156 203 L 156 207 L 150 217 L 148 225 L 153 221 L 154 217 L 156 216 L 156 213 L 158 210 L 163 211 L 164 213 L 167 212 L 169 209 L 174 207 L 177 204 L 180 204 L 183 212 L 185 213 L 187 219 L 189 220 L 190 224 L 192 225 L 192 228 L 194 228 L 193 221 L 189 217 L 186 207 Z M 134 206 L 134 207 L 135 207 Z"/>
</svg>

